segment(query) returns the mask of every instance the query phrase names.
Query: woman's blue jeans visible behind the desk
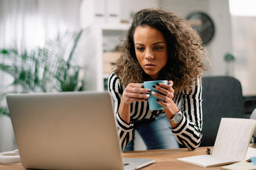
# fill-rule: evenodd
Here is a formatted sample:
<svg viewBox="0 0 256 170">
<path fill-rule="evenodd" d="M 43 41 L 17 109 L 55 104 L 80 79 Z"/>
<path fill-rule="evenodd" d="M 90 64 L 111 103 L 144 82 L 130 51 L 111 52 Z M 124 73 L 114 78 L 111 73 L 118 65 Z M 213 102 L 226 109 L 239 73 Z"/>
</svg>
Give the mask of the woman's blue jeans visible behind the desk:
<svg viewBox="0 0 256 170">
<path fill-rule="evenodd" d="M 157 115 L 154 120 L 135 125 L 147 149 L 176 149 L 178 142 L 169 128 L 171 125 L 165 114 Z M 133 130 L 134 137 L 134 130 Z M 124 151 L 134 150 L 134 138 L 125 147 Z"/>
</svg>

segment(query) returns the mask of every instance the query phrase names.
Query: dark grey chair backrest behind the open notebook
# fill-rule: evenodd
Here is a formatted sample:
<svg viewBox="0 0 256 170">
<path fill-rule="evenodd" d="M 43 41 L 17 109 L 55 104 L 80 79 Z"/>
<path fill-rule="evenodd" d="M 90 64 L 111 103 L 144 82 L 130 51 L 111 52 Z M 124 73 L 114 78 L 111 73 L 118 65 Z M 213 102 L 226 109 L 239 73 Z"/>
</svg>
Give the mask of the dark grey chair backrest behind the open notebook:
<svg viewBox="0 0 256 170">
<path fill-rule="evenodd" d="M 203 77 L 203 138 L 201 147 L 213 146 L 221 118 L 242 118 L 242 86 L 233 77 Z"/>
</svg>

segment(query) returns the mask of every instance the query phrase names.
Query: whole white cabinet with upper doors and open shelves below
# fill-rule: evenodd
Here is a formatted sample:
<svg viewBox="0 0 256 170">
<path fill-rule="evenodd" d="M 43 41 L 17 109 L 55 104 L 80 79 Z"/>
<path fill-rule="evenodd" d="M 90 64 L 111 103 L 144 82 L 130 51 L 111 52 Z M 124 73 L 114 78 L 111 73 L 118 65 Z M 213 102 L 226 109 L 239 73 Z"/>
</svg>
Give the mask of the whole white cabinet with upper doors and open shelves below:
<svg viewBox="0 0 256 170">
<path fill-rule="evenodd" d="M 120 3 L 121 0 L 82 0 L 80 26 L 86 31 L 85 90 L 106 89 L 108 74 L 118 57 L 115 49 L 128 29 L 127 24 L 120 23 Z"/>
</svg>

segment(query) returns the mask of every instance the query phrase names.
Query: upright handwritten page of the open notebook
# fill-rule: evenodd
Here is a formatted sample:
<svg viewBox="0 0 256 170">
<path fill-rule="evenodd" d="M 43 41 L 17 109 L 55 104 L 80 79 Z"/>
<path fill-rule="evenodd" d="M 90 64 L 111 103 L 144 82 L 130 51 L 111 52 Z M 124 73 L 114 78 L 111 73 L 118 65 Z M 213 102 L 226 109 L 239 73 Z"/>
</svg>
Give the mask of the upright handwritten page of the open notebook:
<svg viewBox="0 0 256 170">
<path fill-rule="evenodd" d="M 255 120 L 252 119 L 222 118 L 213 155 L 244 161 L 253 127 L 255 127 Z"/>
</svg>

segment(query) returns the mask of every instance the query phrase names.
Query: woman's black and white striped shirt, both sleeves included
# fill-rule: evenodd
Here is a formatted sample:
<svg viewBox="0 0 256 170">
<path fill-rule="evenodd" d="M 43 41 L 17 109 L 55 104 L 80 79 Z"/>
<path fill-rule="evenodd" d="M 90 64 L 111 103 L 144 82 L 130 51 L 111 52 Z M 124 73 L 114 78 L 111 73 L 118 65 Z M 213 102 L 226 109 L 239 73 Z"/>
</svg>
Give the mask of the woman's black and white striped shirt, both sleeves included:
<svg viewBox="0 0 256 170">
<path fill-rule="evenodd" d="M 183 113 L 183 119 L 176 128 L 171 128 L 176 140 L 181 145 L 185 145 L 188 149 L 196 149 L 201 143 L 202 138 L 202 85 L 201 80 L 197 80 L 197 85 L 193 85 L 191 91 L 183 90 L 178 95 L 174 96 L 174 103 L 180 108 Z M 148 102 L 133 102 L 131 103 L 131 121 L 127 124 L 119 117 L 118 109 L 122 98 L 124 87 L 119 82 L 119 77 L 110 73 L 108 79 L 108 91 L 114 101 L 114 113 L 116 113 L 117 132 L 120 139 L 122 149 L 126 147 L 128 142 L 132 140 L 132 130 L 134 123 L 139 120 L 149 120 L 156 115 L 164 113 L 164 111 L 149 110 Z M 180 103 L 181 102 L 181 103 Z M 179 106 L 181 104 L 181 106 Z"/>
</svg>

